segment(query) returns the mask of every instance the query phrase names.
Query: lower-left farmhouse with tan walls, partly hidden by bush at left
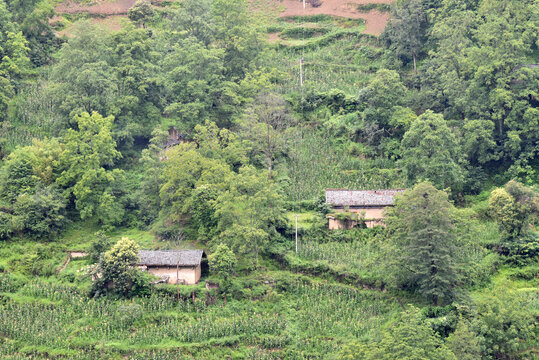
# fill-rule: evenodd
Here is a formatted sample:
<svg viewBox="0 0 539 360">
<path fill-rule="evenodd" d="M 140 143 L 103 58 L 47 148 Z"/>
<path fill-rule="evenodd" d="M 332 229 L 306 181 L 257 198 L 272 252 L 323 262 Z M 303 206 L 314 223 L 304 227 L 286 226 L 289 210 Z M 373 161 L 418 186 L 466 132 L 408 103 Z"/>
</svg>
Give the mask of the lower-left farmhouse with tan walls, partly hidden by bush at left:
<svg viewBox="0 0 539 360">
<path fill-rule="evenodd" d="M 202 250 L 141 250 L 139 268 L 169 284 L 193 285 L 200 280 Z"/>
</svg>

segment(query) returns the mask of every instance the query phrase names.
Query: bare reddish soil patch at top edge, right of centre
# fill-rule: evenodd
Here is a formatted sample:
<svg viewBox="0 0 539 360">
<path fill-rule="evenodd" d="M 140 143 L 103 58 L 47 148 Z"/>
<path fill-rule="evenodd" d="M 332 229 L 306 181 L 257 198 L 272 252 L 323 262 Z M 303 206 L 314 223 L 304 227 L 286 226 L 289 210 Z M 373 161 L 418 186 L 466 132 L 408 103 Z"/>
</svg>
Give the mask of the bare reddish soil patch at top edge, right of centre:
<svg viewBox="0 0 539 360">
<path fill-rule="evenodd" d="M 394 0 L 321 0 L 322 5 L 312 7 L 306 4 L 303 9 L 303 3 L 299 0 L 282 0 L 280 2 L 286 10 L 280 16 L 297 16 L 297 15 L 333 15 L 347 17 L 351 19 L 364 19 L 366 23 L 366 34 L 380 35 L 389 19 L 389 14 L 381 13 L 373 10 L 368 13 L 362 13 L 357 10 L 359 4 L 390 4 Z"/>
</svg>

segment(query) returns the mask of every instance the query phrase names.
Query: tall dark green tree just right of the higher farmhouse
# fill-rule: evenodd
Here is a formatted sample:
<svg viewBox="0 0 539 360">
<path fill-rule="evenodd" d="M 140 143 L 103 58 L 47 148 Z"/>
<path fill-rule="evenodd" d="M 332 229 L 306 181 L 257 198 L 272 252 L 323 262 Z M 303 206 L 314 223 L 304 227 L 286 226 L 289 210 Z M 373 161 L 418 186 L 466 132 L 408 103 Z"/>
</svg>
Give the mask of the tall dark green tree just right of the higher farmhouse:
<svg viewBox="0 0 539 360">
<path fill-rule="evenodd" d="M 397 285 L 417 291 L 435 305 L 455 295 L 452 211 L 445 192 L 420 183 L 396 198 L 386 221 L 393 255 L 389 262 Z"/>
</svg>

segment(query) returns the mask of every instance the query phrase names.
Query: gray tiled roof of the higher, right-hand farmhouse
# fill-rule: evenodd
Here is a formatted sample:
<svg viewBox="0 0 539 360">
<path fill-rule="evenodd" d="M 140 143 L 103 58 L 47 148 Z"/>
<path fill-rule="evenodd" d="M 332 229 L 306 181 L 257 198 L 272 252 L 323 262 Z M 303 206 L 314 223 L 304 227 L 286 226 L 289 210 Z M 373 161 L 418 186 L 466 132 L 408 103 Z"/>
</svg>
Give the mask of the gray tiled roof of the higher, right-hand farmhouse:
<svg viewBox="0 0 539 360">
<path fill-rule="evenodd" d="M 326 189 L 326 203 L 333 206 L 391 206 L 394 196 L 404 190 Z"/>
</svg>

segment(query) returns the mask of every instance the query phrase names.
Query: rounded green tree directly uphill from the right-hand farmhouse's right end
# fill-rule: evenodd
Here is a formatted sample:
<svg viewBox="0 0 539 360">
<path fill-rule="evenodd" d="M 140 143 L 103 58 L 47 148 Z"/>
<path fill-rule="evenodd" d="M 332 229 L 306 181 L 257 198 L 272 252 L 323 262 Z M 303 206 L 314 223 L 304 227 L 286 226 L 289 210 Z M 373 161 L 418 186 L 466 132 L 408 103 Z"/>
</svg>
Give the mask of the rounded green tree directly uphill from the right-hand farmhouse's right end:
<svg viewBox="0 0 539 360">
<path fill-rule="evenodd" d="M 440 114 L 427 111 L 404 134 L 399 161 L 408 185 L 429 180 L 459 190 L 464 180 L 459 144 Z"/>
</svg>

